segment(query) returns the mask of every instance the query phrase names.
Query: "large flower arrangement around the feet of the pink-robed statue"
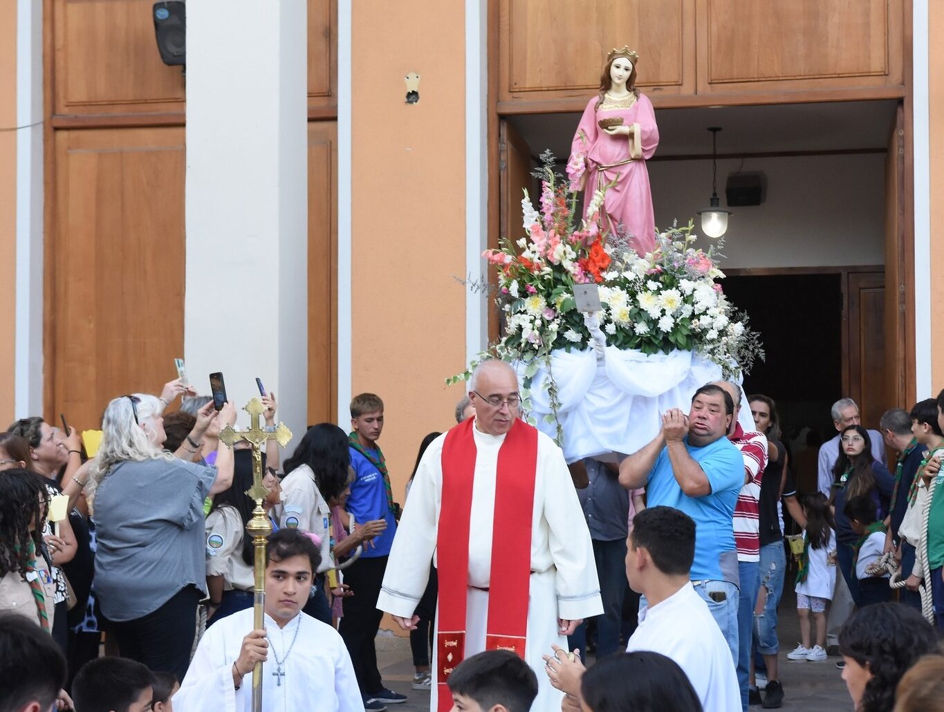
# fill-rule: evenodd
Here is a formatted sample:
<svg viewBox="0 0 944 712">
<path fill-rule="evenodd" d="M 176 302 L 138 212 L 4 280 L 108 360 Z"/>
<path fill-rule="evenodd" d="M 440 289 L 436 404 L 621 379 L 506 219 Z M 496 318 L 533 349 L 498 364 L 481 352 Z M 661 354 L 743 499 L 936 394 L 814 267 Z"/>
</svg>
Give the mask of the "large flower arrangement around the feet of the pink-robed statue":
<svg viewBox="0 0 944 712">
<path fill-rule="evenodd" d="M 645 354 L 695 351 L 715 361 L 725 377 L 750 371 L 754 358 L 763 357 L 756 333 L 715 281 L 724 276 L 716 264 L 720 241 L 702 250 L 691 222 L 673 225 L 640 257 L 630 236 L 599 232 L 605 189 L 593 196 L 589 217 L 577 226 L 576 193 L 549 165 L 543 173 L 541 212 L 527 190 L 521 201 L 528 236 L 484 253 L 498 270 L 497 302 L 505 320 L 495 356 L 527 363 L 555 349 L 586 348 L 591 336 L 573 286 L 596 282 L 603 306 L 597 317 L 608 346 Z"/>
</svg>

